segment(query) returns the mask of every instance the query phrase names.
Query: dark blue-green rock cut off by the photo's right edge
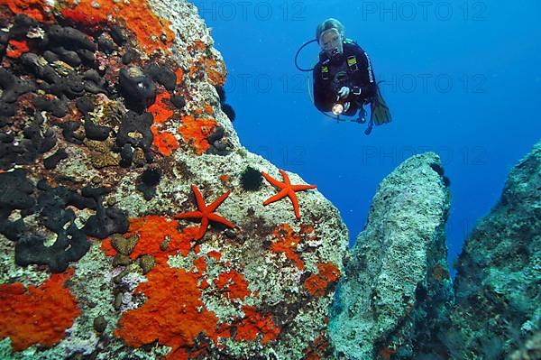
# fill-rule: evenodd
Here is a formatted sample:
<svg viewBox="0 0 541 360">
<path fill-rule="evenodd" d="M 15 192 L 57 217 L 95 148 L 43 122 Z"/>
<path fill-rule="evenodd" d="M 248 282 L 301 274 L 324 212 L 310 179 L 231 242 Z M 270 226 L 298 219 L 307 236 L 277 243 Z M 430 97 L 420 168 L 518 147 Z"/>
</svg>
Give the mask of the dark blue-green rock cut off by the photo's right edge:
<svg viewBox="0 0 541 360">
<path fill-rule="evenodd" d="M 539 249 L 541 143 L 510 171 L 500 202 L 466 239 L 452 326 L 440 334 L 449 354 L 507 358 L 541 330 Z"/>
</svg>

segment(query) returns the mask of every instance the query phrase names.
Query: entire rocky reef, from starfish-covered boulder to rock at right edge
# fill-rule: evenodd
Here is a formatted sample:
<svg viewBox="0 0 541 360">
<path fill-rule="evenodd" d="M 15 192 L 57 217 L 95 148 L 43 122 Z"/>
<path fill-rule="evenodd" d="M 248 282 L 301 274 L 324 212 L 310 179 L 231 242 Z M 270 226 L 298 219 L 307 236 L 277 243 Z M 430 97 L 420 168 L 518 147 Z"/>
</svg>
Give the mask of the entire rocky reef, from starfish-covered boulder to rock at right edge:
<svg viewBox="0 0 541 360">
<path fill-rule="evenodd" d="M 0 358 L 541 358 L 541 144 L 453 284 L 438 156 L 348 252 L 315 185 L 243 148 L 187 1 L 0 0 L 0 60 Z"/>
</svg>

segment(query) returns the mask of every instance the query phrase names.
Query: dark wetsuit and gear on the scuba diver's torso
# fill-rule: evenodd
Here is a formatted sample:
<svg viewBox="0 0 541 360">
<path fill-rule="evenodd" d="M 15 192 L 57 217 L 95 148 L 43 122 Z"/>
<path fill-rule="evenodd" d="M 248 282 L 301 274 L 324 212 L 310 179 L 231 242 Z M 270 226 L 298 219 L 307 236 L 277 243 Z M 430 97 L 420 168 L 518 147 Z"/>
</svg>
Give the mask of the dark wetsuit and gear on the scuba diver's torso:
<svg viewBox="0 0 541 360">
<path fill-rule="evenodd" d="M 348 65 L 348 58 L 351 60 L 352 57 L 356 60 L 357 69 L 354 65 Z M 344 115 L 353 116 L 362 104 L 370 102 L 377 93 L 376 78 L 371 69 L 370 59 L 354 42 L 344 42 L 344 53 L 333 60 L 327 59 L 325 52 L 322 52 L 314 68 L 314 103 L 320 111 L 331 111 L 336 102 L 337 91 L 342 87 L 348 87 L 350 95 L 341 102 L 350 102 L 350 108 Z M 322 71 L 322 68 L 328 69 L 328 72 Z M 354 95 L 353 87 L 360 88 L 361 94 Z"/>
</svg>

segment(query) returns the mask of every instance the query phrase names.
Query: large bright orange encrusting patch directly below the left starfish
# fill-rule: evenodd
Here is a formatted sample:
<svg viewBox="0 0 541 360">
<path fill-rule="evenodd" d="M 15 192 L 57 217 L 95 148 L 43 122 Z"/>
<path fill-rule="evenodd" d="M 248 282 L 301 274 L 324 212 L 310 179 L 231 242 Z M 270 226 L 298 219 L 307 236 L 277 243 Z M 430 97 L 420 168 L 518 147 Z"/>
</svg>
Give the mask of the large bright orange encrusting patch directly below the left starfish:
<svg viewBox="0 0 541 360">
<path fill-rule="evenodd" d="M 206 259 L 219 262 L 220 253 L 211 251 L 197 257 L 189 272 L 168 265 L 171 255 L 181 252 L 182 256 L 188 256 L 190 253 L 188 245 L 193 239 L 188 235 L 190 228 L 179 232 L 175 220 L 163 217 L 133 219 L 131 224 L 130 231 L 120 239 L 107 239 L 102 244 L 107 255 L 127 254 L 136 259 L 151 254 L 157 263 L 148 272 L 148 282 L 140 283 L 134 291 L 144 296 L 144 303 L 137 309 L 125 311 L 115 330 L 115 336 L 123 338 L 126 345 L 141 347 L 158 341 L 160 345 L 172 347 L 167 358 L 187 359 L 210 346 L 198 345 L 203 337 L 214 346 L 221 346 L 219 339 L 232 337 L 232 334 L 237 341 L 257 340 L 262 344 L 279 336 L 280 327 L 272 315 L 262 314 L 253 306 L 243 305 L 243 315 L 232 318 L 231 322 L 219 320 L 213 311 L 206 309 L 203 297 L 205 293 L 208 296 L 208 291 L 235 306 L 253 295 L 243 274 L 233 268 L 216 274 L 209 283 Z M 130 243 L 133 236 L 137 236 L 136 244 Z M 198 252 L 197 248 L 193 250 Z M 145 324 L 144 327 L 141 324 Z"/>
</svg>

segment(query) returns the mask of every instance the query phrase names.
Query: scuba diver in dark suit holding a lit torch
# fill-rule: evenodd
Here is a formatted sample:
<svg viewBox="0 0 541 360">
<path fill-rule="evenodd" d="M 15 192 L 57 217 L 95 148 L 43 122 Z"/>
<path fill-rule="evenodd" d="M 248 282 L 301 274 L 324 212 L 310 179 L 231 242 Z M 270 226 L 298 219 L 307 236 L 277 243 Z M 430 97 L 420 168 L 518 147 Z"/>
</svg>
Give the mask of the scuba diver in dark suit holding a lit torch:
<svg viewBox="0 0 541 360">
<path fill-rule="evenodd" d="M 313 69 L 300 69 L 298 53 L 309 43 L 317 42 L 321 48 L 319 61 Z M 306 42 L 297 52 L 295 64 L 301 71 L 312 71 L 314 105 L 322 113 L 332 112 L 354 116 L 353 121 L 366 122 L 364 105 L 371 105 L 371 117 L 365 134 L 371 134 L 373 125 L 390 123 L 389 107 L 385 104 L 376 82 L 371 61 L 362 48 L 344 36 L 344 25 L 329 18 L 316 28 L 316 39 Z M 327 114 L 326 114 L 327 115 Z"/>
</svg>

